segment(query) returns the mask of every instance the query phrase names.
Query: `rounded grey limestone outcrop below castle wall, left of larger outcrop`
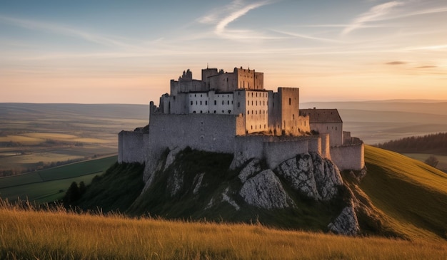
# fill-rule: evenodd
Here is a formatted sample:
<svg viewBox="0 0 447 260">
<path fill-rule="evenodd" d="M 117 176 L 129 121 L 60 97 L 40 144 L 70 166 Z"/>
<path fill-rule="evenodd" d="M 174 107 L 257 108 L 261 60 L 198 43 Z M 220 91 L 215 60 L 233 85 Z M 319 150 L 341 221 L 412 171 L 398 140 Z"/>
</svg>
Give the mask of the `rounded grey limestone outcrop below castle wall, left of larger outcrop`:
<svg viewBox="0 0 447 260">
<path fill-rule="evenodd" d="M 263 209 L 294 207 L 293 200 L 270 169 L 246 180 L 239 194 L 248 204 Z"/>
</svg>

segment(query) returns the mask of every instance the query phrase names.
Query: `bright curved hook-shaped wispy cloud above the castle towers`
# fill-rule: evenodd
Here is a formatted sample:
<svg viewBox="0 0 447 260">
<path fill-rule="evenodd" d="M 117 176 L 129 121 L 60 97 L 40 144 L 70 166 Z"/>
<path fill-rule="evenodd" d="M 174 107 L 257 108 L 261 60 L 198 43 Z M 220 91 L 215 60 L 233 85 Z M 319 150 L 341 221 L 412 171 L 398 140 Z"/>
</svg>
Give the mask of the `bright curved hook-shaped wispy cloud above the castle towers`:
<svg viewBox="0 0 447 260">
<path fill-rule="evenodd" d="M 228 24 L 231 24 L 233 21 L 246 15 L 249 11 L 272 4 L 273 2 L 275 2 L 275 0 L 256 1 L 251 3 L 246 3 L 246 1 L 243 0 L 234 0 L 228 6 L 211 11 L 210 14 L 201 17 L 198 21 L 203 24 L 215 24 L 214 33 L 218 36 L 246 38 L 243 36 L 244 34 L 251 34 L 251 36 L 249 36 L 251 38 L 254 34 L 251 31 L 241 29 L 229 31 L 226 27 Z"/>
</svg>

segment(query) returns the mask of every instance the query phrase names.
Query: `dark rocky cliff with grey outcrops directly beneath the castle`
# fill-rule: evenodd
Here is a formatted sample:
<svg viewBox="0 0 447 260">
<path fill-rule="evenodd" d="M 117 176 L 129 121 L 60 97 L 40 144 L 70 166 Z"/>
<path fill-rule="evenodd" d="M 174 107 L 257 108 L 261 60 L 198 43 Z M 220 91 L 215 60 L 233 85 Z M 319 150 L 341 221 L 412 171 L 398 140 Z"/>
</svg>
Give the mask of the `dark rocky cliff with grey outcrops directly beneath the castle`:
<svg viewBox="0 0 447 260">
<path fill-rule="evenodd" d="M 251 159 L 231 170 L 232 155 L 166 151 L 131 206 L 134 214 L 261 222 L 275 227 L 357 234 L 352 192 L 330 160 L 296 155 L 275 169 Z"/>
</svg>

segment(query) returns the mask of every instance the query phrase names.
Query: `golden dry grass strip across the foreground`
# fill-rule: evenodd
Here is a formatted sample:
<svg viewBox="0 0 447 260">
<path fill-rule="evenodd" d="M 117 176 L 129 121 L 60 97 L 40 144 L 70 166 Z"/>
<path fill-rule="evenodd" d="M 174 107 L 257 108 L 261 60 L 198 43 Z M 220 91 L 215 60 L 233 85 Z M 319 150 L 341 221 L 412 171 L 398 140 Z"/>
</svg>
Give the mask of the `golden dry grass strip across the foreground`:
<svg viewBox="0 0 447 260">
<path fill-rule="evenodd" d="M 281 231 L 0 206 L 1 259 L 445 259 L 445 241 Z"/>
</svg>

